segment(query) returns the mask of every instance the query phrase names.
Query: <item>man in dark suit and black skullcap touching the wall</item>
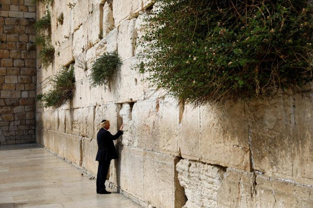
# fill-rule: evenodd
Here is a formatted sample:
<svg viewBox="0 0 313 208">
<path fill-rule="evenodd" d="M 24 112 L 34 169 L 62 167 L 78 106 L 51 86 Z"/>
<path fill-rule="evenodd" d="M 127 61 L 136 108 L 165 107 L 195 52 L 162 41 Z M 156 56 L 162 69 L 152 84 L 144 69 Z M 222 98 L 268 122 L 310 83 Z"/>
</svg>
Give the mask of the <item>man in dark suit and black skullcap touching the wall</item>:
<svg viewBox="0 0 313 208">
<path fill-rule="evenodd" d="M 111 160 L 118 158 L 113 140 L 116 140 L 120 135 L 123 134 L 123 124 L 115 135 L 112 135 L 108 131 L 110 129 L 109 120 L 102 120 L 100 127 L 101 129 L 97 134 L 98 151 L 96 161 L 99 162 L 97 173 L 97 193 L 108 194 L 111 192 L 106 190 L 104 183 L 107 179 Z"/>
</svg>

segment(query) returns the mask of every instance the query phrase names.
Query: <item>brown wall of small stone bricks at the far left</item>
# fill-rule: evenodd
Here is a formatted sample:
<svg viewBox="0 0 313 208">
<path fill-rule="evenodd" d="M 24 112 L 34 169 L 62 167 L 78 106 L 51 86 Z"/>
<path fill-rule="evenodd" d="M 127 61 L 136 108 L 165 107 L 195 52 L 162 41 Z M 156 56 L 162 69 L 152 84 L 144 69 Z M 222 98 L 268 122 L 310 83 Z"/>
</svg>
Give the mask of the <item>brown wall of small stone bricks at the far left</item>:
<svg viewBox="0 0 313 208">
<path fill-rule="evenodd" d="M 0 144 L 35 142 L 36 51 L 31 0 L 0 0 Z"/>
</svg>

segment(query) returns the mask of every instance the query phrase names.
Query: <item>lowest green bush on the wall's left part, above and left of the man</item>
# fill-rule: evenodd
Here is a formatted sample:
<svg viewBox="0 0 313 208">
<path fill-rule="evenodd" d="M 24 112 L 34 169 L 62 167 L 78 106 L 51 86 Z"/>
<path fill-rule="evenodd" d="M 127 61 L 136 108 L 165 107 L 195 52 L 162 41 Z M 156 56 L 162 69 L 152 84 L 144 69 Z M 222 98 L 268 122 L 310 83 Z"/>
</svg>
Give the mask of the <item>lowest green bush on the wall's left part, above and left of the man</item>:
<svg viewBox="0 0 313 208">
<path fill-rule="evenodd" d="M 73 97 L 75 90 L 74 67 L 63 68 L 57 75 L 51 79 L 53 90 L 44 95 L 37 95 L 44 107 L 59 108 Z"/>
</svg>

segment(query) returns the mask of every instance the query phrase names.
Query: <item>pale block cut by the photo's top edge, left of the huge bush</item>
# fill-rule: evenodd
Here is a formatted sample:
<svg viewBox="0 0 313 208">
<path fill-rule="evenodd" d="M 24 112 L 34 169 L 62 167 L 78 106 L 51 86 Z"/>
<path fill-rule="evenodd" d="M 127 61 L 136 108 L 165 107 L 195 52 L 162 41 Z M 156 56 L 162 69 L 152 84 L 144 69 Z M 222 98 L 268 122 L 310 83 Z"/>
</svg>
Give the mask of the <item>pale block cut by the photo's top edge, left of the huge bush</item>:
<svg viewBox="0 0 313 208">
<path fill-rule="evenodd" d="M 115 26 L 123 19 L 132 18 L 141 9 L 141 0 L 113 0 L 113 18 Z"/>
</svg>

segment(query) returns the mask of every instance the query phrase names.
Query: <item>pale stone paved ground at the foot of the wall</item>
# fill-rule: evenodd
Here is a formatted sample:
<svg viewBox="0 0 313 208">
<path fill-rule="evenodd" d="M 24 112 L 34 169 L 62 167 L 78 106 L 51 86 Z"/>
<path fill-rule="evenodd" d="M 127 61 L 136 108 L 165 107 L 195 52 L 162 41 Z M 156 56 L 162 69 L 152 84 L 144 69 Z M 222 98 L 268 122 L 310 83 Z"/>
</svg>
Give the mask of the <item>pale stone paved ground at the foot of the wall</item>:
<svg viewBox="0 0 313 208">
<path fill-rule="evenodd" d="M 0 208 L 139 208 L 36 144 L 0 146 Z"/>
</svg>

